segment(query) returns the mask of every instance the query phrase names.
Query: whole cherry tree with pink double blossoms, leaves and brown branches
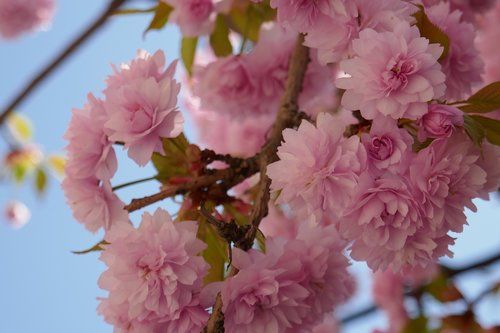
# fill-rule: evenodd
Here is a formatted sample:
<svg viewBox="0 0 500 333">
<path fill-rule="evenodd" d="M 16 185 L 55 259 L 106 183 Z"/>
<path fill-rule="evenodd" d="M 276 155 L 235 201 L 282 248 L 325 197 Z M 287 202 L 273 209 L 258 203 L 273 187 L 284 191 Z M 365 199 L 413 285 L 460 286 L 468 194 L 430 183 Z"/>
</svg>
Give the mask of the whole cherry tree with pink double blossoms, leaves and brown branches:
<svg viewBox="0 0 500 333">
<path fill-rule="evenodd" d="M 24 96 L 110 16 L 151 15 L 145 34 L 178 26 L 180 60 L 139 50 L 114 65 L 64 134 L 61 187 L 75 220 L 105 232 L 83 252 L 101 251 L 97 312 L 114 332 L 340 332 L 377 307 L 383 332 L 500 330 L 475 319 L 498 284 L 469 300 L 454 280 L 500 256 L 438 261 L 500 186 L 500 3 L 146 4 L 111 1 L 0 115 L 15 125 Z M 0 0 L 0 35 L 46 24 L 51 6 Z M 156 174 L 113 186 L 118 150 Z M 144 181 L 158 192 L 117 193 Z M 176 211 L 150 209 L 167 199 Z M 373 271 L 375 305 L 341 317 L 354 261 Z M 466 310 L 431 316 L 428 296 Z"/>
</svg>

